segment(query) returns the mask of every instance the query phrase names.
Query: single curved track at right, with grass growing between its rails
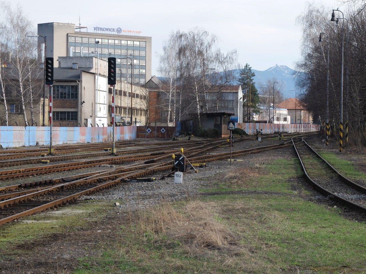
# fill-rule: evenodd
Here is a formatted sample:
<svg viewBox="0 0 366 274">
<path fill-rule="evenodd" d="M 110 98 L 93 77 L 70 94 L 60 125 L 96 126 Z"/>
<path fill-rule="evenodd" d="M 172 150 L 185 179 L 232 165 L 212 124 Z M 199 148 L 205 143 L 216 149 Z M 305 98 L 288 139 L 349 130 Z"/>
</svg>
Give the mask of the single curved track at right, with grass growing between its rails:
<svg viewBox="0 0 366 274">
<path fill-rule="evenodd" d="M 295 152 L 306 178 L 321 192 L 343 203 L 366 210 L 366 188 L 346 178 L 321 157 L 305 140 L 295 142 Z M 321 168 L 321 169 L 320 169 Z"/>
</svg>

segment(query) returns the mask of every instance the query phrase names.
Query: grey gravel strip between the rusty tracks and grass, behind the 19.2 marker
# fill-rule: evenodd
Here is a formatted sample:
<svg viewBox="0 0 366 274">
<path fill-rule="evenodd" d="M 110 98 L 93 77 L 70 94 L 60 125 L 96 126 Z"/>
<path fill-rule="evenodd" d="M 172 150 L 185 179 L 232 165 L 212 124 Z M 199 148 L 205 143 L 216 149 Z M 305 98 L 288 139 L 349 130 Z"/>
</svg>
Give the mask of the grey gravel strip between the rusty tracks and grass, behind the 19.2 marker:
<svg viewBox="0 0 366 274">
<path fill-rule="evenodd" d="M 244 141 L 235 144 L 234 150 L 252 148 L 255 146 L 272 144 L 272 140 L 267 144 L 258 141 Z M 222 153 L 229 151 L 230 148 L 218 148 L 212 153 Z M 209 162 L 205 168 L 198 168 L 198 173 L 188 170 L 183 174 L 183 183 L 174 183 L 173 177 L 167 177 L 154 182 L 136 182 L 113 187 L 107 191 L 102 191 L 94 195 L 83 196 L 82 200 L 120 200 L 120 209 L 137 209 L 152 206 L 162 201 L 180 201 L 189 197 L 200 195 L 199 189 L 209 187 L 212 178 L 224 176 L 230 169 L 238 167 L 254 167 L 258 164 L 272 162 L 277 158 L 294 157 L 292 148 L 284 148 L 276 151 L 266 151 L 258 154 L 250 154 L 235 157 L 243 161 L 233 161 L 231 167 L 229 161 L 220 160 Z"/>
</svg>

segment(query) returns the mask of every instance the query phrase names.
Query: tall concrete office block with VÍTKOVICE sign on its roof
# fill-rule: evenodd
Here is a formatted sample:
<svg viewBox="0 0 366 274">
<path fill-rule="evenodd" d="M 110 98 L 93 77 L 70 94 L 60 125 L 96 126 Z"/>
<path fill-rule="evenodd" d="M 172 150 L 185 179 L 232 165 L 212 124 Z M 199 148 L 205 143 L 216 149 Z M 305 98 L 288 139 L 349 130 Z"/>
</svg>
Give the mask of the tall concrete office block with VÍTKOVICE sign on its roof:
<svg viewBox="0 0 366 274">
<path fill-rule="evenodd" d="M 69 23 L 38 24 L 38 35 L 46 38 L 46 56 L 54 58 L 55 66 L 60 66 L 56 60 L 61 56 L 97 57 L 98 51 L 99 58 L 103 60 L 117 58 L 117 79 L 125 82 L 131 79 L 131 63 L 129 59 L 123 59 L 126 57 L 130 57 L 133 62 L 134 84 L 145 84 L 146 79 L 151 78 L 151 37 L 126 35 L 139 32 L 122 30 L 120 27 L 94 27 L 94 30 L 100 32 L 88 32 L 87 28 Z M 38 46 L 41 47 L 42 43 L 44 40 L 39 37 Z"/>
</svg>

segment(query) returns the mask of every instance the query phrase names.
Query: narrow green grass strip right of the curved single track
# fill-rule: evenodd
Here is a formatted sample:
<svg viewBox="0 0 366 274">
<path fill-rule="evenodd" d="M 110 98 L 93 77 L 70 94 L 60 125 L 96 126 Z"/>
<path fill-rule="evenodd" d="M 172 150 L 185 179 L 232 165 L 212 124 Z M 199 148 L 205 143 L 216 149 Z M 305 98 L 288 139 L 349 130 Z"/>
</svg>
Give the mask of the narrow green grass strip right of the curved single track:
<svg viewBox="0 0 366 274">
<path fill-rule="evenodd" d="M 329 151 L 318 152 L 329 164 L 338 170 L 341 174 L 352 180 L 366 181 L 366 174 L 355 169 L 351 161 L 341 159 L 335 153 Z"/>
</svg>

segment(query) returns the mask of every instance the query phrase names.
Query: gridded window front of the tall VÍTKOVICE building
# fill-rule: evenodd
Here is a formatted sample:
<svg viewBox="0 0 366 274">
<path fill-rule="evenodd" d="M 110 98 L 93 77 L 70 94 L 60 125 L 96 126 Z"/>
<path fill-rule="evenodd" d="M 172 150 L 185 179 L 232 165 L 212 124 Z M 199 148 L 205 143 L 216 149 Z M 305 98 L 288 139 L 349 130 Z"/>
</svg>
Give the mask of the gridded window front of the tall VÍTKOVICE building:
<svg viewBox="0 0 366 274">
<path fill-rule="evenodd" d="M 96 44 L 95 41 L 99 43 Z M 131 61 L 123 59 L 130 57 L 133 62 L 133 82 L 146 83 L 146 42 L 120 39 L 102 39 L 87 37 L 68 37 L 68 47 L 72 49 L 72 56 L 97 56 L 94 51 L 98 50 L 99 58 L 106 60 L 108 57 L 116 57 L 117 80 L 127 81 L 131 79 Z M 68 51 L 70 52 L 70 50 Z"/>
</svg>

